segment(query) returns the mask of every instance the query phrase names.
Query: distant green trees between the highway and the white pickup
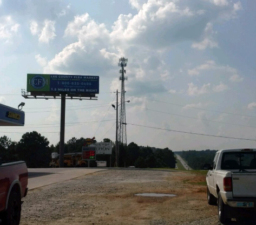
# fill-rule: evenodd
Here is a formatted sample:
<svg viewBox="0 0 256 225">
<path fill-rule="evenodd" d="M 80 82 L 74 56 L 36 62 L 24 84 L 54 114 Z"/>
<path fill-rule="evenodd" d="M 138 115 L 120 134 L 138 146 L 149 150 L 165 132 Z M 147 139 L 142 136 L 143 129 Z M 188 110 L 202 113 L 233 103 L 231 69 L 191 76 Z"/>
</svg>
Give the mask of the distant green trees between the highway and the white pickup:
<svg viewBox="0 0 256 225">
<path fill-rule="evenodd" d="M 206 149 L 202 151 L 189 150 L 176 153 L 185 159 L 192 169 L 202 169 L 204 164 L 211 164 L 213 162 L 216 152 L 217 150 Z"/>
</svg>

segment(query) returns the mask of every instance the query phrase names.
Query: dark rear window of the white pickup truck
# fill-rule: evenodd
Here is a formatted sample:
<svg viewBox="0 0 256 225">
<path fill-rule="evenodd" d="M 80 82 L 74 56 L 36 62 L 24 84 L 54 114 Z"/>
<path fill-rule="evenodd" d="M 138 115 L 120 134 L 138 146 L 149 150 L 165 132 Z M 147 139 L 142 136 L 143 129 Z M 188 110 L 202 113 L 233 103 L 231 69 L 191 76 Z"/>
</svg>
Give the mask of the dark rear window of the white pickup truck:
<svg viewBox="0 0 256 225">
<path fill-rule="evenodd" d="M 256 169 L 256 152 L 226 152 L 221 169 Z"/>
</svg>

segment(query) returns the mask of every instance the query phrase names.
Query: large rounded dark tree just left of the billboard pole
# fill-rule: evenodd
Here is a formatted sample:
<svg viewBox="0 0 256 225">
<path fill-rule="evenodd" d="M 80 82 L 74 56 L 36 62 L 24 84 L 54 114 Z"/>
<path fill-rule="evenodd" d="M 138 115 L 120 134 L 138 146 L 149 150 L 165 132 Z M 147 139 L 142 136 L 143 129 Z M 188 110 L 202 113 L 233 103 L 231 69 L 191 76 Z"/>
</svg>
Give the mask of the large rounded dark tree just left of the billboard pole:
<svg viewBox="0 0 256 225">
<path fill-rule="evenodd" d="M 48 167 L 51 159 L 49 141 L 36 131 L 22 135 L 17 144 L 18 157 L 27 163 L 29 168 Z"/>
</svg>

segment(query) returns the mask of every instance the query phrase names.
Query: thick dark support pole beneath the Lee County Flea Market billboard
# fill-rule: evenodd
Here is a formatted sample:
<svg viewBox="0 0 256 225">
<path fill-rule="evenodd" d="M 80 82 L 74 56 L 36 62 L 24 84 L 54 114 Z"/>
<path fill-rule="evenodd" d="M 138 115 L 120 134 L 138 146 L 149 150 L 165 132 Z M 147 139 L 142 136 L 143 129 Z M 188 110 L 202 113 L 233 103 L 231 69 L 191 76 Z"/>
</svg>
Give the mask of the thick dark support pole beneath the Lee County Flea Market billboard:
<svg viewBox="0 0 256 225">
<path fill-rule="evenodd" d="M 66 95 L 61 94 L 61 133 L 60 133 L 60 168 L 64 167 L 64 145 L 65 145 L 65 104 Z"/>
</svg>

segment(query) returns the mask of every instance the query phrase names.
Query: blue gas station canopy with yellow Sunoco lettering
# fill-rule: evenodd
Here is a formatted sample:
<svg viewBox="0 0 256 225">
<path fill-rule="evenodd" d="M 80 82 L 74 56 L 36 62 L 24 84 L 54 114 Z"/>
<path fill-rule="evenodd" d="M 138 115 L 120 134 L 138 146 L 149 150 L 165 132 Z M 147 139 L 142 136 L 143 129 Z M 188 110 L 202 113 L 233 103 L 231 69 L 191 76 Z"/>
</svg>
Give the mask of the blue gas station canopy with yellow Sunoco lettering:
<svg viewBox="0 0 256 225">
<path fill-rule="evenodd" d="M 24 126 L 25 113 L 0 104 L 0 126 Z"/>
</svg>

